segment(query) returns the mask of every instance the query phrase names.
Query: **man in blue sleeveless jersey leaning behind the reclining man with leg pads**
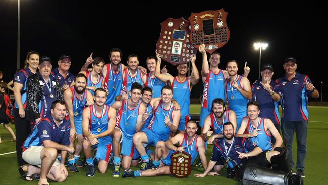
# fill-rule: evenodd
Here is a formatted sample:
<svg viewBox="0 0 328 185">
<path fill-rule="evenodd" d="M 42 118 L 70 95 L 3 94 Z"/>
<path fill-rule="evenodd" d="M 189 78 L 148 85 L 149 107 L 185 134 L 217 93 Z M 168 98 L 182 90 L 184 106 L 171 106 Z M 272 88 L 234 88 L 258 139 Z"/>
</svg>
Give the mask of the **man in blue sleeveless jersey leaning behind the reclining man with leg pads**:
<svg viewBox="0 0 328 185">
<path fill-rule="evenodd" d="M 250 141 L 264 150 L 274 150 L 283 144 L 278 130 L 270 119 L 259 117 L 260 107 L 257 101 L 247 104 L 247 117 L 241 122 L 237 137 L 250 138 Z M 271 137 L 276 143 L 272 146 Z"/>
</svg>

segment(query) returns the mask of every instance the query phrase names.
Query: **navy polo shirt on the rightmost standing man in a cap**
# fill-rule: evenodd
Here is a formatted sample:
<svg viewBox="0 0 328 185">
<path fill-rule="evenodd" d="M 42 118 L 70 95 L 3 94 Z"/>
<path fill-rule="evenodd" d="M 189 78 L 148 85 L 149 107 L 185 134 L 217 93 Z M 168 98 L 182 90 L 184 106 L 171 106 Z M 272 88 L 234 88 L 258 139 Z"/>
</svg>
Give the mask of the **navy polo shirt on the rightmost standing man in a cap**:
<svg viewBox="0 0 328 185">
<path fill-rule="evenodd" d="M 281 105 L 283 108 L 282 121 L 308 121 L 308 98 L 311 91 L 305 89 L 306 83 L 312 83 L 304 74 L 297 73 L 288 81 L 286 76 L 276 80 L 277 90 L 282 93 Z"/>
</svg>

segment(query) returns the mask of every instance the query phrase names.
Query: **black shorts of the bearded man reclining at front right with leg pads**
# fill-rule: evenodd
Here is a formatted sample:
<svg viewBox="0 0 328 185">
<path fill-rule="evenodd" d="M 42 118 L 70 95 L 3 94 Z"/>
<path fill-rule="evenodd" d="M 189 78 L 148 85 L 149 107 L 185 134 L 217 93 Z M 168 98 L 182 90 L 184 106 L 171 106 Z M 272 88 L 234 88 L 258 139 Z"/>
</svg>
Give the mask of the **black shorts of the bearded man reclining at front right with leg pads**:
<svg viewBox="0 0 328 185">
<path fill-rule="evenodd" d="M 242 162 L 240 162 L 240 165 L 237 165 L 233 169 L 235 177 L 239 181 L 241 181 L 243 179 L 244 171 L 245 171 L 248 164 L 254 164 L 254 165 L 257 165 L 257 166 L 270 168 L 271 163 L 266 159 L 266 153 L 267 152 L 269 152 L 269 150 L 265 150 L 265 151 L 261 152 L 260 154 L 258 154 L 257 156 L 249 157 L 248 159 L 244 158 L 242 160 Z"/>
</svg>

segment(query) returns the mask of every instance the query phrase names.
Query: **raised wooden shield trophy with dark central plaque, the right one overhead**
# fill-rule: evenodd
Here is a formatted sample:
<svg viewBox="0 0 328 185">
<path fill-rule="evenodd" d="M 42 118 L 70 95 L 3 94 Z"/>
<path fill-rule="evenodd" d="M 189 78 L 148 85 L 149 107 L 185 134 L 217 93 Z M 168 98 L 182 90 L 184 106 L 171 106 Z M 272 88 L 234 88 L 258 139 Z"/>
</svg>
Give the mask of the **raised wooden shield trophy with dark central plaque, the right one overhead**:
<svg viewBox="0 0 328 185">
<path fill-rule="evenodd" d="M 191 13 L 189 21 L 192 45 L 198 49 L 204 43 L 206 52 L 210 54 L 223 47 L 230 38 L 227 15 L 228 13 L 223 8 L 216 11 Z"/>
</svg>

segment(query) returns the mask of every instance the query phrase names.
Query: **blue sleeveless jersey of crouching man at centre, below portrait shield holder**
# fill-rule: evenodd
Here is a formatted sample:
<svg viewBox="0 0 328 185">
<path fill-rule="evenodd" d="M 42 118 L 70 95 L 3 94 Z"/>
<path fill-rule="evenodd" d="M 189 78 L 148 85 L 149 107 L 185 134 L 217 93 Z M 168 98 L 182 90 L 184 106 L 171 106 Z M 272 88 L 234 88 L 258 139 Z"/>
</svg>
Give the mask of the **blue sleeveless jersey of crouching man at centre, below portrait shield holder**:
<svg viewBox="0 0 328 185">
<path fill-rule="evenodd" d="M 162 107 L 162 101 L 159 102 L 158 106 L 154 110 L 154 115 L 148 125 L 148 129 L 154 132 L 162 141 L 167 141 L 171 130 L 170 128 L 164 123 L 165 116 L 169 114 L 169 118 L 171 122 L 172 119 L 172 113 L 174 111 L 173 105 L 170 110 L 165 110 Z M 164 116 L 165 115 L 165 116 Z"/>
</svg>

